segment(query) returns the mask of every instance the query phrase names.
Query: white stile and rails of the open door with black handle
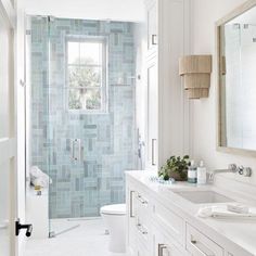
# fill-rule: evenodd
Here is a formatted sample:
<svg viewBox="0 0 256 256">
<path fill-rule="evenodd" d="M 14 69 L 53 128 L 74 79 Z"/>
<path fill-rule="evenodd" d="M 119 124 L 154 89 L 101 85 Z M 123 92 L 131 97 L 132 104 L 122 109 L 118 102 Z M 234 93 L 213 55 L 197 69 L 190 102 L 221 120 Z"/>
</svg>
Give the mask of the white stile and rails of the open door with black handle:
<svg viewBox="0 0 256 256">
<path fill-rule="evenodd" d="M 10 190 L 8 192 L 10 200 L 9 220 L 10 220 L 10 255 L 18 255 L 17 239 L 15 236 L 15 220 L 17 217 L 17 129 L 16 129 L 16 66 L 15 66 L 15 29 L 16 11 L 10 0 L 0 0 L 0 15 L 4 21 L 4 26 L 10 29 L 10 53 L 9 53 L 9 107 L 10 118 L 9 133 L 5 138 L 0 138 L 0 162 L 10 163 Z"/>
</svg>

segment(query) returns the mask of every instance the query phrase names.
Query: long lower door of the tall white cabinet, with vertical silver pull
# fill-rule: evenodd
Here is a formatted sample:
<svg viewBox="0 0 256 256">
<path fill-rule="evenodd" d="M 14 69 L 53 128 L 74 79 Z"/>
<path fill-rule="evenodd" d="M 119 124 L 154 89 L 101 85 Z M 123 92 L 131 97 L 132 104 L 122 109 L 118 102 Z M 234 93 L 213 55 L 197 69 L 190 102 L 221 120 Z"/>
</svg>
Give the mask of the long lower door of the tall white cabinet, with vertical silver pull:
<svg viewBox="0 0 256 256">
<path fill-rule="evenodd" d="M 148 143 L 146 167 L 157 169 L 158 164 L 158 88 L 157 62 L 148 65 Z"/>
</svg>

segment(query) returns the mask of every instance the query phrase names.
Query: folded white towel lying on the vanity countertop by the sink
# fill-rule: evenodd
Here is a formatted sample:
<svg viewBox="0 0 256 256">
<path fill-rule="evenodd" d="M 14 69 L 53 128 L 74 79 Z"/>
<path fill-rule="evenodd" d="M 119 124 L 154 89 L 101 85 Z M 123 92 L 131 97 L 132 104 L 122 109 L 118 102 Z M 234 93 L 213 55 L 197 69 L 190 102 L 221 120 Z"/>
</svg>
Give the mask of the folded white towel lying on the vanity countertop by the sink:
<svg viewBox="0 0 256 256">
<path fill-rule="evenodd" d="M 201 218 L 219 218 L 219 219 L 255 219 L 256 208 L 249 208 L 247 214 L 238 214 L 228 210 L 227 205 L 206 206 L 199 209 L 197 216 Z"/>
</svg>

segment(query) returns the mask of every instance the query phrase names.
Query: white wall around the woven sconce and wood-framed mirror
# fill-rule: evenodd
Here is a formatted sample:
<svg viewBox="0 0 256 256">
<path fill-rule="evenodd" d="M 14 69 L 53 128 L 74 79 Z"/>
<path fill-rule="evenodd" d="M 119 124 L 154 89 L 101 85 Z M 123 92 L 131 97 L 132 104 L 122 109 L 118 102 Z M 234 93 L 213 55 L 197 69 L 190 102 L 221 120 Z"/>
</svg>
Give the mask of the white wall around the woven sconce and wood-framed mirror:
<svg viewBox="0 0 256 256">
<path fill-rule="evenodd" d="M 217 116 L 216 116 L 216 53 L 215 53 L 215 22 L 244 0 L 193 0 L 193 53 L 213 54 L 214 72 L 209 98 L 194 101 L 193 119 L 191 124 L 192 150 L 196 159 L 204 159 L 209 169 L 225 168 L 230 163 L 251 166 L 254 170 L 252 178 L 238 175 L 226 175 L 231 179 L 256 185 L 256 158 L 225 154 L 216 151 Z"/>
</svg>

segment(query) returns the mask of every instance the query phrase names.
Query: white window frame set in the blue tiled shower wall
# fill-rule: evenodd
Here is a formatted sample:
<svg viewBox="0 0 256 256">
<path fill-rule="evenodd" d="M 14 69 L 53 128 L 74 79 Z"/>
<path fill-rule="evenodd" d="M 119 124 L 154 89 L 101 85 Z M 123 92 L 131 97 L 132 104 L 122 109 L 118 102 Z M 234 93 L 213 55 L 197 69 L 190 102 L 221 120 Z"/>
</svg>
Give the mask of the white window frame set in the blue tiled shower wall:
<svg viewBox="0 0 256 256">
<path fill-rule="evenodd" d="M 68 84 L 68 42 L 98 42 L 102 43 L 102 85 L 101 85 L 101 108 L 100 110 L 71 110 L 69 108 L 69 84 Z M 80 35 L 71 35 L 66 37 L 66 56 L 65 56 L 65 88 L 66 88 L 66 108 L 73 114 L 107 114 L 108 113 L 108 43 L 106 37 L 101 36 L 80 36 Z M 85 64 L 79 64 L 79 66 L 90 66 Z M 91 65 L 97 66 L 97 65 Z M 85 87 L 90 88 L 90 87 Z M 77 88 L 78 89 L 78 88 Z"/>
</svg>

